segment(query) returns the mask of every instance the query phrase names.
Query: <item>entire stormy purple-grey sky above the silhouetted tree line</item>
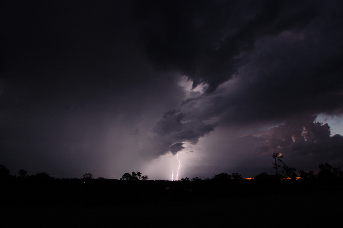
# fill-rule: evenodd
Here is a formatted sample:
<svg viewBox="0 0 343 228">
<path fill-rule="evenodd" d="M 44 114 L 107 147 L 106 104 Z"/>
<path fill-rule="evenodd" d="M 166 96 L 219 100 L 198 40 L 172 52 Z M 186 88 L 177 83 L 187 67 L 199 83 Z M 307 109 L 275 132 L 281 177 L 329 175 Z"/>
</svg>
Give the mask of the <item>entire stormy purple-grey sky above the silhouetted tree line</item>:
<svg viewBox="0 0 343 228">
<path fill-rule="evenodd" d="M 1 1 L 0 23 L 11 174 L 343 167 L 342 1 Z"/>
</svg>

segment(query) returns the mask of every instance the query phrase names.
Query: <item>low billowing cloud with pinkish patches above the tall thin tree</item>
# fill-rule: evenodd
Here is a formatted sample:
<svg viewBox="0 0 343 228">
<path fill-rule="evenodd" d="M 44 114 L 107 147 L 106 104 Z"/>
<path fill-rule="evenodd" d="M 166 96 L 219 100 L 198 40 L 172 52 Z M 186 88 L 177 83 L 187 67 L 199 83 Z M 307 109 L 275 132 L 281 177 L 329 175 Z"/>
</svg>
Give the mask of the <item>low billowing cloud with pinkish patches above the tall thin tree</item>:
<svg viewBox="0 0 343 228">
<path fill-rule="evenodd" d="M 316 116 L 296 116 L 262 136 L 243 136 L 238 141 L 258 154 L 282 153 L 284 160 L 298 169 L 319 163 L 340 165 L 343 161 L 343 136 L 330 136 L 330 126 L 315 122 Z"/>
</svg>

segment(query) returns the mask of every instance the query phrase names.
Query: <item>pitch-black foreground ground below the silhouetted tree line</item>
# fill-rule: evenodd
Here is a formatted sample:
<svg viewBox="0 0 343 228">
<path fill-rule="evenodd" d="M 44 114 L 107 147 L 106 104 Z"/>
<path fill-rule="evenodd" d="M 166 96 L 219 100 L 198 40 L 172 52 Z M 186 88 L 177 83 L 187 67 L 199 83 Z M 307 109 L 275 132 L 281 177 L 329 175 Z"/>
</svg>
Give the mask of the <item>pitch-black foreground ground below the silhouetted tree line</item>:
<svg viewBox="0 0 343 228">
<path fill-rule="evenodd" d="M 6 186 L 0 227 L 342 227 L 340 183 L 55 180 Z"/>
</svg>

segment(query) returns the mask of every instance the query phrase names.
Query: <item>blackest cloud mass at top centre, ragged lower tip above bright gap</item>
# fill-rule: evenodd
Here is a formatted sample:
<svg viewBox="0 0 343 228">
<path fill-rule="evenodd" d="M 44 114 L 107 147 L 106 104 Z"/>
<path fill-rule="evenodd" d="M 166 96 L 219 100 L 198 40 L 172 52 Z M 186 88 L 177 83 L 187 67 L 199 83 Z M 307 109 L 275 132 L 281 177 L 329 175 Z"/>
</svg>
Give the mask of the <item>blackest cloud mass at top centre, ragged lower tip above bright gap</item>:
<svg viewBox="0 0 343 228">
<path fill-rule="evenodd" d="M 213 92 L 257 39 L 308 25 L 320 4 L 291 1 L 135 1 L 147 55 Z"/>
</svg>

